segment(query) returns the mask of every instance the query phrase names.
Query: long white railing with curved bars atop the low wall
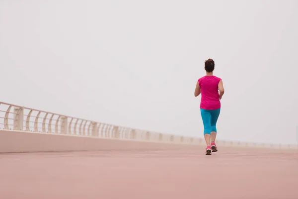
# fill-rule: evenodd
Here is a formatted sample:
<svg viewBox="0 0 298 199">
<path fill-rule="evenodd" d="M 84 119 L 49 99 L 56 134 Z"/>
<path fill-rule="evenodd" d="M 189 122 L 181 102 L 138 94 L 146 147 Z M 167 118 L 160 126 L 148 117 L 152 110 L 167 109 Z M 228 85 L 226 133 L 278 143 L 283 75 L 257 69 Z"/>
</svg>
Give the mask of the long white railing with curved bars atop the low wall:
<svg viewBox="0 0 298 199">
<path fill-rule="evenodd" d="M 205 140 L 202 138 L 157 133 L 101 123 L 5 102 L 0 102 L 0 129 L 205 145 Z M 223 140 L 218 140 L 217 143 L 222 146 L 298 149 L 298 145 L 260 144 Z"/>
</svg>

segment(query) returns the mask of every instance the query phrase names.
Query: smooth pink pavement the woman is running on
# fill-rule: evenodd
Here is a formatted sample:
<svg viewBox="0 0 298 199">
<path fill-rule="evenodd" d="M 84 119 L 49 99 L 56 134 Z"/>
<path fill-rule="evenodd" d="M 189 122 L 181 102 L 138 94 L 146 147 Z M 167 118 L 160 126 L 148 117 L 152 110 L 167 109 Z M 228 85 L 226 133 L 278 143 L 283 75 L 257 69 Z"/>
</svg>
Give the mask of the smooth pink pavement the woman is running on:
<svg viewBox="0 0 298 199">
<path fill-rule="evenodd" d="M 0 199 L 298 199 L 298 153 L 205 148 L 0 154 Z"/>
</svg>

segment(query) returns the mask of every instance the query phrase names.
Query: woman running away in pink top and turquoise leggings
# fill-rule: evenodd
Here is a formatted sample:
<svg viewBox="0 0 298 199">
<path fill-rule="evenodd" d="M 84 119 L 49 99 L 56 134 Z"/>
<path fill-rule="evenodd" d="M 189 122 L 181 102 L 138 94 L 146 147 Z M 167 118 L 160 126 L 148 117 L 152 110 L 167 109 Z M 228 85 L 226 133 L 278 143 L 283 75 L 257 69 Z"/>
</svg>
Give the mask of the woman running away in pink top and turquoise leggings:
<svg viewBox="0 0 298 199">
<path fill-rule="evenodd" d="M 206 76 L 197 81 L 195 89 L 195 97 L 202 94 L 200 109 L 204 125 L 204 138 L 207 144 L 206 155 L 211 155 L 211 150 L 212 152 L 218 151 L 215 144 L 216 123 L 221 112 L 220 100 L 224 95 L 222 79 L 213 75 L 214 65 L 212 59 L 205 61 Z"/>
</svg>

